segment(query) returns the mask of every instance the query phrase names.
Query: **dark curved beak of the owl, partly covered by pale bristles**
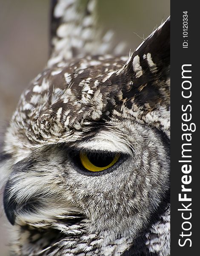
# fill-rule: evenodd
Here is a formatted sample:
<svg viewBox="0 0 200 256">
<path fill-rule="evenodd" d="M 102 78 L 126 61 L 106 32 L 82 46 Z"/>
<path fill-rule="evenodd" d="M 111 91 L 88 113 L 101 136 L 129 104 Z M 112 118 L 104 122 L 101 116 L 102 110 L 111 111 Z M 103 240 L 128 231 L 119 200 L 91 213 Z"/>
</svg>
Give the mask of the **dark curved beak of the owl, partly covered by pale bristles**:
<svg viewBox="0 0 200 256">
<path fill-rule="evenodd" d="M 3 193 L 3 207 L 4 207 L 4 211 L 6 212 L 6 217 L 8 218 L 10 223 L 14 225 L 15 219 L 16 219 L 15 212 L 17 209 L 17 203 L 14 200 L 14 198 L 11 198 L 9 196 L 9 188 L 10 188 L 10 184 L 8 181 Z"/>
</svg>

